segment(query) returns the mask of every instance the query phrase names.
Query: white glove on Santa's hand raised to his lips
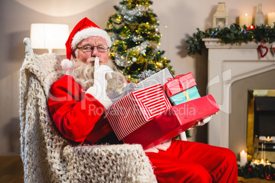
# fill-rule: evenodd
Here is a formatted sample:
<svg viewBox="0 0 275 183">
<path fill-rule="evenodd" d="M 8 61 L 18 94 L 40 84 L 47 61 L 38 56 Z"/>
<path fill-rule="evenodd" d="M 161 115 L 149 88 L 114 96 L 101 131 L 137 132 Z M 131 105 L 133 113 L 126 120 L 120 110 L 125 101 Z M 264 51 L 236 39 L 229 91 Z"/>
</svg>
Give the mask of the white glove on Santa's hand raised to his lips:
<svg viewBox="0 0 275 183">
<path fill-rule="evenodd" d="M 94 85 L 86 91 L 86 94 L 91 94 L 96 100 L 99 100 L 105 109 L 112 106 L 112 100 L 107 97 L 106 93 L 107 79 L 112 79 L 112 72 L 113 70 L 109 66 L 99 66 L 99 58 L 96 57 L 94 61 Z"/>
</svg>

